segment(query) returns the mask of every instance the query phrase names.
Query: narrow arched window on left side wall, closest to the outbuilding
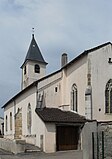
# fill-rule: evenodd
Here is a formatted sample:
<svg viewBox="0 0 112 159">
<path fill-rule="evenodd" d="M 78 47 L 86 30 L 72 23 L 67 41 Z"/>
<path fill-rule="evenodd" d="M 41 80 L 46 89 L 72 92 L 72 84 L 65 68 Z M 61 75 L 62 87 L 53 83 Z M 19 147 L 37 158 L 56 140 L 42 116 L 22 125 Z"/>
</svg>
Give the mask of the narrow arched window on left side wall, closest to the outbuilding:
<svg viewBox="0 0 112 159">
<path fill-rule="evenodd" d="M 31 120 L 31 105 L 30 103 L 28 104 L 28 109 L 27 109 L 27 128 L 29 133 L 31 133 L 31 125 L 32 125 L 32 120 Z"/>
</svg>

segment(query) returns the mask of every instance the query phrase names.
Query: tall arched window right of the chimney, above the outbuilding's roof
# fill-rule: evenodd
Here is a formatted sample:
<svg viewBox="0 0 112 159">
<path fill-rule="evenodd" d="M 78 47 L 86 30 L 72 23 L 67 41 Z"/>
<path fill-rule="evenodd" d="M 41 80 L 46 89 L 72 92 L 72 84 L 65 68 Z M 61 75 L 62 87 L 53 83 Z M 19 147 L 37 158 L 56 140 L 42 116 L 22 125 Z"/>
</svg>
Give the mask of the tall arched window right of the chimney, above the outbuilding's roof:
<svg viewBox="0 0 112 159">
<path fill-rule="evenodd" d="M 76 84 L 72 85 L 71 89 L 71 109 L 77 111 L 77 86 Z"/>
</svg>

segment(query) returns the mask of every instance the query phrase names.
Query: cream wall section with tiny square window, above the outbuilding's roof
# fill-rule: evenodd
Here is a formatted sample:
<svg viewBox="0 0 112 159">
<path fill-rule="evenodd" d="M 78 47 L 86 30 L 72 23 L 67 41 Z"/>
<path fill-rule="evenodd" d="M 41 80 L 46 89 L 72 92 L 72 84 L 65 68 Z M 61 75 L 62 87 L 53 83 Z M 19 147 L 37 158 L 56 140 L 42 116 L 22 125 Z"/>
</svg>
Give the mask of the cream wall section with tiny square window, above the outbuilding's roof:
<svg viewBox="0 0 112 159">
<path fill-rule="evenodd" d="M 44 102 L 47 107 L 59 107 L 61 105 L 61 80 L 59 72 L 38 83 L 38 96 L 44 93 Z"/>
</svg>

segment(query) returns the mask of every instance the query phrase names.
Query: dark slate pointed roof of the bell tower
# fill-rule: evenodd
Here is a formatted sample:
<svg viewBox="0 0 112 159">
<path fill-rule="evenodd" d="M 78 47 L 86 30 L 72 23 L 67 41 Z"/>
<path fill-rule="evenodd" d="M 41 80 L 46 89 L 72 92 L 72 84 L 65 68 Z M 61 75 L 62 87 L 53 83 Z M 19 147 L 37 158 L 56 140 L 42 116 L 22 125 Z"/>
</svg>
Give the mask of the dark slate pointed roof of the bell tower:
<svg viewBox="0 0 112 159">
<path fill-rule="evenodd" d="M 26 58 L 25 58 L 23 65 L 25 64 L 25 62 L 27 60 L 37 61 L 37 62 L 41 62 L 41 63 L 47 65 L 47 62 L 45 62 L 45 60 L 41 54 L 41 51 L 37 45 L 37 42 L 34 38 L 34 34 L 32 34 L 32 40 L 30 43 L 30 47 L 28 49 L 28 52 L 27 52 L 27 55 L 26 55 Z M 21 68 L 23 67 L 23 65 L 21 66 Z"/>
</svg>

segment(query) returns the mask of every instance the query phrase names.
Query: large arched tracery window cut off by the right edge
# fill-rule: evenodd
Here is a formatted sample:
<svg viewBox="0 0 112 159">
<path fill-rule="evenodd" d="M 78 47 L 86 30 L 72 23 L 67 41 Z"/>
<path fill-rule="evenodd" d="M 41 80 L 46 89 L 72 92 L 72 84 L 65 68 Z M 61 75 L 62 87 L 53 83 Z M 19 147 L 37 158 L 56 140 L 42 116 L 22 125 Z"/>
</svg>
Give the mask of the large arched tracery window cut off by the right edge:
<svg viewBox="0 0 112 159">
<path fill-rule="evenodd" d="M 112 79 L 110 79 L 105 88 L 105 113 L 112 113 Z"/>
</svg>

